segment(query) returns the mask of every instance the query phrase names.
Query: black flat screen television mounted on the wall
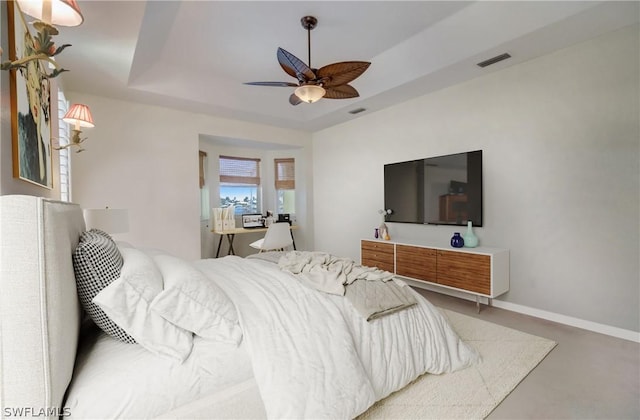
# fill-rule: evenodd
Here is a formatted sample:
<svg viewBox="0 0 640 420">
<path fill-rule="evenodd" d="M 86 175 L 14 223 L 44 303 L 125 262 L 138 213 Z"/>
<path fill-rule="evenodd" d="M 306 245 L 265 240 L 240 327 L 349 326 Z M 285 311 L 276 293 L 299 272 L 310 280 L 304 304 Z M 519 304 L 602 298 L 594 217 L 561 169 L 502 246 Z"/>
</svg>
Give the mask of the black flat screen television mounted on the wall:
<svg viewBox="0 0 640 420">
<path fill-rule="evenodd" d="M 482 150 L 384 165 L 388 222 L 482 226 Z"/>
</svg>

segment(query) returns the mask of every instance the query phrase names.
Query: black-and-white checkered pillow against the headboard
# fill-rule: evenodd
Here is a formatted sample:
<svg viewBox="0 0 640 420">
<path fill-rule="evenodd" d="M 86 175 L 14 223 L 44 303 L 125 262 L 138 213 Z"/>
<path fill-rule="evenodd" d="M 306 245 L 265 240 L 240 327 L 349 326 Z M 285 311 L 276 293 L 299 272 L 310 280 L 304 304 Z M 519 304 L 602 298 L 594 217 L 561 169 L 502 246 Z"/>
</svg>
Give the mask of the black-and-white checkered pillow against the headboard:
<svg viewBox="0 0 640 420">
<path fill-rule="evenodd" d="M 73 254 L 78 298 L 89 317 L 104 332 L 125 343 L 136 341 L 118 327 L 92 302 L 93 298 L 120 276 L 122 255 L 111 237 L 97 229 L 82 233 Z"/>
</svg>

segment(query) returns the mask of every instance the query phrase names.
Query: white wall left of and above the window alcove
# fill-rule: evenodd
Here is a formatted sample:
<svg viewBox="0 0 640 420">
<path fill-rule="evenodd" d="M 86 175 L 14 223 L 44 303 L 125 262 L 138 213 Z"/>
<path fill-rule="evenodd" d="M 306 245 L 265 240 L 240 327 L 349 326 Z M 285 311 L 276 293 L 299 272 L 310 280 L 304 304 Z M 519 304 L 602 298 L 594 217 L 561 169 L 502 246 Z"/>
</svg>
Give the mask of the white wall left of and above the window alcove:
<svg viewBox="0 0 640 420">
<path fill-rule="evenodd" d="M 201 134 L 309 147 L 308 133 L 190 114 L 77 92 L 96 124 L 73 154 L 73 201 L 128 208 L 130 232 L 116 239 L 197 259 L 200 247 L 198 148 Z"/>
</svg>

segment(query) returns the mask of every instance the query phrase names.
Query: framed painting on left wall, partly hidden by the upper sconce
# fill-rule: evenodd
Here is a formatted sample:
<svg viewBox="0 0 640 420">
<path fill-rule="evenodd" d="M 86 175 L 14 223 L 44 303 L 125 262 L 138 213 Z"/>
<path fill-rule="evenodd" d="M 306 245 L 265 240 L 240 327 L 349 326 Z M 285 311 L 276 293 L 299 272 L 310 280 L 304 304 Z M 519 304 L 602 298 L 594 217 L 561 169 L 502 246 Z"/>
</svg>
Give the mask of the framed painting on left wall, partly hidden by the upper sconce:
<svg viewBox="0 0 640 420">
<path fill-rule="evenodd" d="M 34 40 L 16 2 L 7 2 L 9 59 L 32 55 Z M 49 79 L 39 60 L 10 71 L 13 176 L 53 187 Z"/>
</svg>

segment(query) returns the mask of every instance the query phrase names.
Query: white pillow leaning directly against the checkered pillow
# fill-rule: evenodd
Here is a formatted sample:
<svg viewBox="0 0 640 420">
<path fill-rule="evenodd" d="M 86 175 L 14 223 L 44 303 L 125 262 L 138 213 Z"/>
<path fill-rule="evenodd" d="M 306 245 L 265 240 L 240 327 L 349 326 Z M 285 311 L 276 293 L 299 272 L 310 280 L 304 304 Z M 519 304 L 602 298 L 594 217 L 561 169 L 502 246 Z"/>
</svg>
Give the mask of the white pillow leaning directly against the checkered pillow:
<svg viewBox="0 0 640 420">
<path fill-rule="evenodd" d="M 193 347 L 193 334 L 150 309 L 162 292 L 162 275 L 154 261 L 136 248 L 120 249 L 120 277 L 102 289 L 93 302 L 145 349 L 184 361 Z"/>
</svg>

